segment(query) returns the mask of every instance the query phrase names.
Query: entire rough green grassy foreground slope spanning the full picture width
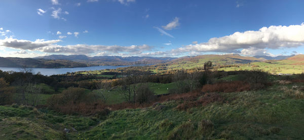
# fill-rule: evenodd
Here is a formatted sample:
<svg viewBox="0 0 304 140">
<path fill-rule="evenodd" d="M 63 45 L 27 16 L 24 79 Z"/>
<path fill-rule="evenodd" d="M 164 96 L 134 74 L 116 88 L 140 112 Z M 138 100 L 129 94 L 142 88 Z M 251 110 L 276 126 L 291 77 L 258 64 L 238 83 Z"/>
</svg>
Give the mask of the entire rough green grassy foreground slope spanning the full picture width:
<svg viewBox="0 0 304 140">
<path fill-rule="evenodd" d="M 304 99 L 287 97 L 281 86 L 221 93 L 224 103 L 185 111 L 176 109 L 183 101 L 164 102 L 161 110 L 149 107 L 112 111 L 99 124 L 94 117 L 0 106 L 0 139 L 300 139 L 304 137 Z M 210 120 L 214 128 L 202 130 L 202 120 Z M 78 131 L 62 132 L 71 127 Z"/>
</svg>

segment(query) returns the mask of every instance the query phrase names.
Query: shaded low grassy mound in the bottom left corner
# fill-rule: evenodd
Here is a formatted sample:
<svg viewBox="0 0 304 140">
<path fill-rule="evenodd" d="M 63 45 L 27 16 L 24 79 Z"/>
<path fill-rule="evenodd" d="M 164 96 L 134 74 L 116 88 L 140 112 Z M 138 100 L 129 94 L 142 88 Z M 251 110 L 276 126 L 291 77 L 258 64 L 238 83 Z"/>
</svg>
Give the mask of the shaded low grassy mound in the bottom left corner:
<svg viewBox="0 0 304 140">
<path fill-rule="evenodd" d="M 0 139 L 77 139 L 79 130 L 86 130 L 97 122 L 94 117 L 43 113 L 25 106 L 0 106 Z M 65 134 L 64 128 L 71 132 Z"/>
</svg>

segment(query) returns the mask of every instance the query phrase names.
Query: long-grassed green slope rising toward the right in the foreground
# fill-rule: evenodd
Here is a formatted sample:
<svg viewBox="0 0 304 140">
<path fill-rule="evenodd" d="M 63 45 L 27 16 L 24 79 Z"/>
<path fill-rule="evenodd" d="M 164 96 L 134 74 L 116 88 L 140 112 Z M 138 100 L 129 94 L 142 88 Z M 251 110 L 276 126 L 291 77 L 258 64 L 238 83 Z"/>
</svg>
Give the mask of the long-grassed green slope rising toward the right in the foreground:
<svg viewBox="0 0 304 140">
<path fill-rule="evenodd" d="M 229 102 L 178 111 L 178 101 L 165 102 L 163 110 L 152 107 L 112 112 L 108 119 L 81 135 L 93 139 L 300 139 L 304 137 L 303 99 L 287 98 L 273 86 L 267 90 L 222 94 Z M 201 120 L 214 129 L 203 134 Z M 184 128 L 185 126 L 189 126 Z M 188 129 L 190 129 L 188 131 Z"/>
</svg>

